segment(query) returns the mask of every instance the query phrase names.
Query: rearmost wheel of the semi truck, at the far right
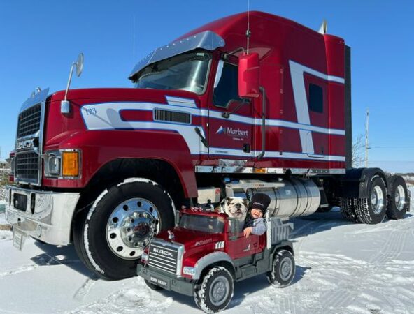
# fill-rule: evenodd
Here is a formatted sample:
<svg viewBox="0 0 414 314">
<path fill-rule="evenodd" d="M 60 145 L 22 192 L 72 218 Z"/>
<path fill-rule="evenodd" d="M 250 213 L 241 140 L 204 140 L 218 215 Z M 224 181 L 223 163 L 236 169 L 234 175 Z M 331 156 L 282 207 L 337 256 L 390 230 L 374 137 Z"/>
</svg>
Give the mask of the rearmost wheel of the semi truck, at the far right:
<svg viewBox="0 0 414 314">
<path fill-rule="evenodd" d="M 408 190 L 406 181 L 400 176 L 388 178 L 388 204 L 387 217 L 390 219 L 401 219 L 408 210 Z"/>
</svg>

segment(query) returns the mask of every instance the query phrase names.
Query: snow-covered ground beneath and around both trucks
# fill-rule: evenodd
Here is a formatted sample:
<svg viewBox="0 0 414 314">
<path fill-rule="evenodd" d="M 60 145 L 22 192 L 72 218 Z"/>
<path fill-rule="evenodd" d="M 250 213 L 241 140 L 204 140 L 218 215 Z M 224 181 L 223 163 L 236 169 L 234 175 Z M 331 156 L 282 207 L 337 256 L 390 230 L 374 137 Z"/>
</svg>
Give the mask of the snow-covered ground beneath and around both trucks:
<svg viewBox="0 0 414 314">
<path fill-rule="evenodd" d="M 414 313 L 413 205 L 379 225 L 346 223 L 335 210 L 294 219 L 292 285 L 276 289 L 265 276 L 236 283 L 225 313 Z M 73 246 L 27 239 L 17 251 L 8 231 L 0 231 L 0 292 L 0 313 L 201 313 L 192 297 L 149 290 L 141 278 L 94 278 Z"/>
</svg>

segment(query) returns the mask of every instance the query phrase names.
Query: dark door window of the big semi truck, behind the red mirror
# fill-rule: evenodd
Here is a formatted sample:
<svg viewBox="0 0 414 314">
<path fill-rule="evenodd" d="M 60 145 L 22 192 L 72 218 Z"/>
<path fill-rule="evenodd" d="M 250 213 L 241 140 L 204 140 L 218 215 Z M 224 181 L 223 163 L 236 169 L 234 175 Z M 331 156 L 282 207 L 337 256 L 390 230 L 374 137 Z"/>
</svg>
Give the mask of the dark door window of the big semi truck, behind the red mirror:
<svg viewBox="0 0 414 314">
<path fill-rule="evenodd" d="M 239 100 L 238 97 L 238 68 L 234 64 L 224 62 L 222 75 L 213 92 L 213 105 L 227 107 L 230 100 Z"/>
</svg>

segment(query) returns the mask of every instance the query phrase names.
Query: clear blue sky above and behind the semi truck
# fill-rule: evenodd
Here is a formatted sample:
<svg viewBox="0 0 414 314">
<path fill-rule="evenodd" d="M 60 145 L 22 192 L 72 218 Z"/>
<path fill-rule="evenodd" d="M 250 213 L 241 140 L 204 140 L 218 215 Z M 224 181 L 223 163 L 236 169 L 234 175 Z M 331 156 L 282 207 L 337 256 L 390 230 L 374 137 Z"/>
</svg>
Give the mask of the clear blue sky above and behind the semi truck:
<svg viewBox="0 0 414 314">
<path fill-rule="evenodd" d="M 36 87 L 64 89 L 79 52 L 85 68 L 71 87 L 131 87 L 148 52 L 246 9 L 247 0 L 0 0 L 0 158 L 14 147 L 21 103 Z M 250 0 L 250 9 L 312 29 L 327 19 L 352 47 L 353 133 L 364 134 L 369 107 L 370 166 L 414 172 L 414 1 Z"/>
</svg>

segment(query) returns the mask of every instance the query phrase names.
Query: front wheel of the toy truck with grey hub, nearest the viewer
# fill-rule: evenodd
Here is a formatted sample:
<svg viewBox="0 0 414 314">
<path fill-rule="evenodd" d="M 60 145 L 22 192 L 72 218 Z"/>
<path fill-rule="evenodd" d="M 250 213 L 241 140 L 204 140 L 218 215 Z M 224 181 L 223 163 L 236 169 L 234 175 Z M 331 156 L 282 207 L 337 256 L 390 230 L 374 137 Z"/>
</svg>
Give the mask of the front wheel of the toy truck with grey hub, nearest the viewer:
<svg viewBox="0 0 414 314">
<path fill-rule="evenodd" d="M 194 301 L 206 313 L 227 308 L 233 297 L 234 282 L 225 267 L 214 267 L 194 287 Z"/>
</svg>

